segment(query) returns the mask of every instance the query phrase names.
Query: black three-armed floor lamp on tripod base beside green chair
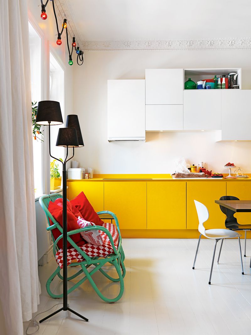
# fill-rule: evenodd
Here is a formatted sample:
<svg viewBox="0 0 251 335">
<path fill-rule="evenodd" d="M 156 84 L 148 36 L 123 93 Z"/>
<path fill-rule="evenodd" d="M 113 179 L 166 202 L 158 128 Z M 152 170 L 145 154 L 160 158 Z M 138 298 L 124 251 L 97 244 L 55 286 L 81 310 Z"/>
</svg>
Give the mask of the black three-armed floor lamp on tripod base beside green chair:
<svg viewBox="0 0 251 335">
<path fill-rule="evenodd" d="M 64 161 L 52 156 L 51 154 L 51 126 L 63 123 L 60 104 L 57 101 L 45 100 L 40 101 L 37 105 L 36 123 L 43 126 L 49 126 L 49 153 L 50 156 L 63 164 L 63 307 L 56 312 L 48 315 L 39 323 L 49 319 L 53 315 L 61 311 L 70 311 L 80 318 L 88 321 L 87 318 L 81 314 L 73 311 L 67 304 L 67 192 L 66 192 L 66 163 L 74 156 L 74 148 L 84 146 L 78 116 L 68 115 L 66 126 L 67 128 L 60 128 L 56 146 L 66 147 L 66 157 Z M 73 155 L 68 157 L 68 148 L 73 148 Z"/>
</svg>

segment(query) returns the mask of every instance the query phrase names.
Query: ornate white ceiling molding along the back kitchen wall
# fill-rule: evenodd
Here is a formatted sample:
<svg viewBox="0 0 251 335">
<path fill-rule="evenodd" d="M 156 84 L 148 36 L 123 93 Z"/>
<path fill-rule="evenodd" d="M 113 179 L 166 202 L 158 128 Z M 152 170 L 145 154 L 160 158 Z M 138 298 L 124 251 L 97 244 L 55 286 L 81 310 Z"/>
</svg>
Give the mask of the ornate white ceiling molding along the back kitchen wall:
<svg viewBox="0 0 251 335">
<path fill-rule="evenodd" d="M 82 41 L 82 50 L 251 50 L 251 37 L 200 40 Z"/>
</svg>

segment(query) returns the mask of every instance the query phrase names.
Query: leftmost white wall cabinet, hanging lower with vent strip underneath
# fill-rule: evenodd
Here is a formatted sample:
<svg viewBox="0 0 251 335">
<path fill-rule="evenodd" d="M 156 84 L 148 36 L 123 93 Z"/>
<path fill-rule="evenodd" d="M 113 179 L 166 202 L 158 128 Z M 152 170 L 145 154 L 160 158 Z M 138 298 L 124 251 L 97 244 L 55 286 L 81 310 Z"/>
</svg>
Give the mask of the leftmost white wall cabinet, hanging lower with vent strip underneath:
<svg viewBox="0 0 251 335">
<path fill-rule="evenodd" d="M 144 140 L 145 80 L 107 81 L 108 140 Z"/>
</svg>

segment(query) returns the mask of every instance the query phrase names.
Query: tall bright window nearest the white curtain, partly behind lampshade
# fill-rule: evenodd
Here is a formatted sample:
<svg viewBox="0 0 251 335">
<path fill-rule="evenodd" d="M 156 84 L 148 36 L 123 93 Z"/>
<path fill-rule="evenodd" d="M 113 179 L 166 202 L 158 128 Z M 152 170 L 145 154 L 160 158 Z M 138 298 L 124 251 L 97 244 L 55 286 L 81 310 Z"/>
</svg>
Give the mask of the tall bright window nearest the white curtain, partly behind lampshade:
<svg viewBox="0 0 251 335">
<path fill-rule="evenodd" d="M 31 101 L 41 100 L 41 38 L 29 23 Z M 31 111 L 30 111 L 31 114 Z M 31 115 L 30 115 L 31 116 Z M 30 134 L 30 136 L 32 136 Z M 41 135 L 33 140 L 34 188 L 35 198 L 43 194 L 42 145 Z"/>
</svg>

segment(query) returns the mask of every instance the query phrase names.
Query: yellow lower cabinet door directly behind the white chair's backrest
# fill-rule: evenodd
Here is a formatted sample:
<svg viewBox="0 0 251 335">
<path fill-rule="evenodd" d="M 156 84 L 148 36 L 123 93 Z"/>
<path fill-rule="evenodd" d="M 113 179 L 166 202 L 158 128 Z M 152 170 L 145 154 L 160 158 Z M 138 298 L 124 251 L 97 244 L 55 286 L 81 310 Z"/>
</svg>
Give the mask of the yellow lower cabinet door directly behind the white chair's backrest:
<svg viewBox="0 0 251 335">
<path fill-rule="evenodd" d="M 239 183 L 238 183 L 239 184 Z M 187 181 L 186 183 L 186 228 L 198 229 L 198 216 L 194 200 L 202 202 L 209 212 L 209 218 L 205 222 L 206 229 L 225 228 L 226 216 L 215 203 L 220 197 L 226 195 L 225 181 Z"/>
</svg>

